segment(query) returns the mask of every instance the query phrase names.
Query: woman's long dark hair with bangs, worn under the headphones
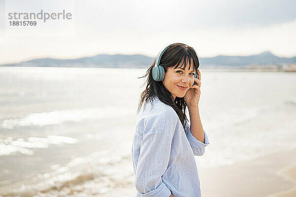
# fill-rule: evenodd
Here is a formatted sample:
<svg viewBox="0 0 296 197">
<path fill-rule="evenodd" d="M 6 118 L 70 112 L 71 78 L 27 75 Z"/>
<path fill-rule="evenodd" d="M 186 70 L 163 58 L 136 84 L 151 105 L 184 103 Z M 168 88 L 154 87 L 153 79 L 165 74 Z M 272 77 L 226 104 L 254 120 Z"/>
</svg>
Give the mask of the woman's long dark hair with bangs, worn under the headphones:
<svg viewBox="0 0 296 197">
<path fill-rule="evenodd" d="M 183 43 L 174 43 L 169 45 L 169 47 L 165 50 L 165 52 L 162 54 L 160 58 L 159 65 L 163 66 L 165 73 L 167 72 L 169 67 L 180 67 L 184 66 L 184 68 L 187 65 L 187 62 L 189 62 L 189 69 L 191 66 L 191 59 L 193 61 L 193 68 L 195 71 L 199 67 L 199 60 L 197 57 L 197 54 L 195 50 Z M 141 86 L 143 87 L 146 85 L 146 89 L 141 93 L 141 98 L 138 106 L 137 114 L 139 113 L 141 106 L 143 103 L 148 102 L 148 100 L 151 102 L 152 98 L 157 96 L 159 100 L 167 105 L 170 105 L 177 113 L 183 128 L 185 130 L 185 119 L 186 117 L 186 102 L 184 98 L 176 97 L 174 100 L 174 97 L 172 94 L 166 89 L 162 81 L 155 81 L 152 77 L 152 68 L 155 65 L 156 58 L 154 62 L 149 66 L 146 74 L 142 77 L 147 77 L 145 83 Z M 152 102 L 151 102 L 152 103 Z M 144 106 L 145 107 L 145 106 Z"/>
</svg>

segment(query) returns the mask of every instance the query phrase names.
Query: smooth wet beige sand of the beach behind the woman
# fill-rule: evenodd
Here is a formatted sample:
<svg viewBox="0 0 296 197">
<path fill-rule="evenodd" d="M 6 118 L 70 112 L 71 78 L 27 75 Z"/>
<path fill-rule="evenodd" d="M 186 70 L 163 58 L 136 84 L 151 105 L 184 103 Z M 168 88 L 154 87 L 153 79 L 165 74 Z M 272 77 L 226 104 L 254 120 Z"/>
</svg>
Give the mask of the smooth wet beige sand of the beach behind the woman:
<svg viewBox="0 0 296 197">
<path fill-rule="evenodd" d="M 296 149 L 215 169 L 199 169 L 202 197 L 296 197 Z M 135 195 L 134 182 L 98 197 Z"/>
</svg>

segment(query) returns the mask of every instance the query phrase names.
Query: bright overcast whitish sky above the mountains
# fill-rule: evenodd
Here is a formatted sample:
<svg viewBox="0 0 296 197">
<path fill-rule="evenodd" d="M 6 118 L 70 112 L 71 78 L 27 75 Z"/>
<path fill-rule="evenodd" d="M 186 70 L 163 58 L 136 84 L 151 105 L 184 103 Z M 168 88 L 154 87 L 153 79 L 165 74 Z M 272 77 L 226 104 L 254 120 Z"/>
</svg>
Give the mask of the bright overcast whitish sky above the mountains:
<svg viewBox="0 0 296 197">
<path fill-rule="evenodd" d="M 0 0 L 0 64 L 103 53 L 156 57 L 175 42 L 193 47 L 201 58 L 264 51 L 291 58 L 295 7 L 295 0 Z M 25 27 L 16 35 L 9 31 L 7 10 L 41 8 L 70 10 L 73 18 L 39 23 L 31 35 Z"/>
</svg>

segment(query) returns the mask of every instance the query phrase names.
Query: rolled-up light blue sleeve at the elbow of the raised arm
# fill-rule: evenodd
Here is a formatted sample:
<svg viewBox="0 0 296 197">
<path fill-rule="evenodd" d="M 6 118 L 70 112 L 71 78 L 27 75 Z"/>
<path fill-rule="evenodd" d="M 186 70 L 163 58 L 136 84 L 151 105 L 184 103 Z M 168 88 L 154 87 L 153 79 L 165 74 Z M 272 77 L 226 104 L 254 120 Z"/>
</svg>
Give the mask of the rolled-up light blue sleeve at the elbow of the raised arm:
<svg viewBox="0 0 296 197">
<path fill-rule="evenodd" d="M 196 155 L 196 156 L 201 156 L 204 154 L 205 152 L 205 147 L 210 144 L 209 142 L 209 138 L 208 138 L 208 135 L 207 133 L 204 131 L 204 134 L 205 134 L 205 142 L 201 142 L 199 141 L 198 139 L 196 139 L 191 131 L 190 131 L 190 123 L 188 121 L 186 121 L 186 124 L 185 124 L 185 132 L 186 132 L 186 136 L 187 136 L 187 139 L 189 141 L 189 144 L 192 148 L 192 151 L 193 151 L 193 155 Z"/>
</svg>

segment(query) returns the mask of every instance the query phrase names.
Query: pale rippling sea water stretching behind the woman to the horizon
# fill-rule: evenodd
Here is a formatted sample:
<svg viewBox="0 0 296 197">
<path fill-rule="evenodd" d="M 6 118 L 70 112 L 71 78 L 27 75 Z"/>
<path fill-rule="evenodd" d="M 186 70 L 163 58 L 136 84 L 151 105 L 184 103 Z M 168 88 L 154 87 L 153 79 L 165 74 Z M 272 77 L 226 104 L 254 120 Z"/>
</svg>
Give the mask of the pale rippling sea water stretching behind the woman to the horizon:
<svg viewBox="0 0 296 197">
<path fill-rule="evenodd" d="M 296 73 L 202 69 L 198 168 L 296 147 Z M 0 67 L 0 195 L 91 196 L 134 182 L 146 69 Z M 187 111 L 187 117 L 189 114 Z"/>
</svg>

